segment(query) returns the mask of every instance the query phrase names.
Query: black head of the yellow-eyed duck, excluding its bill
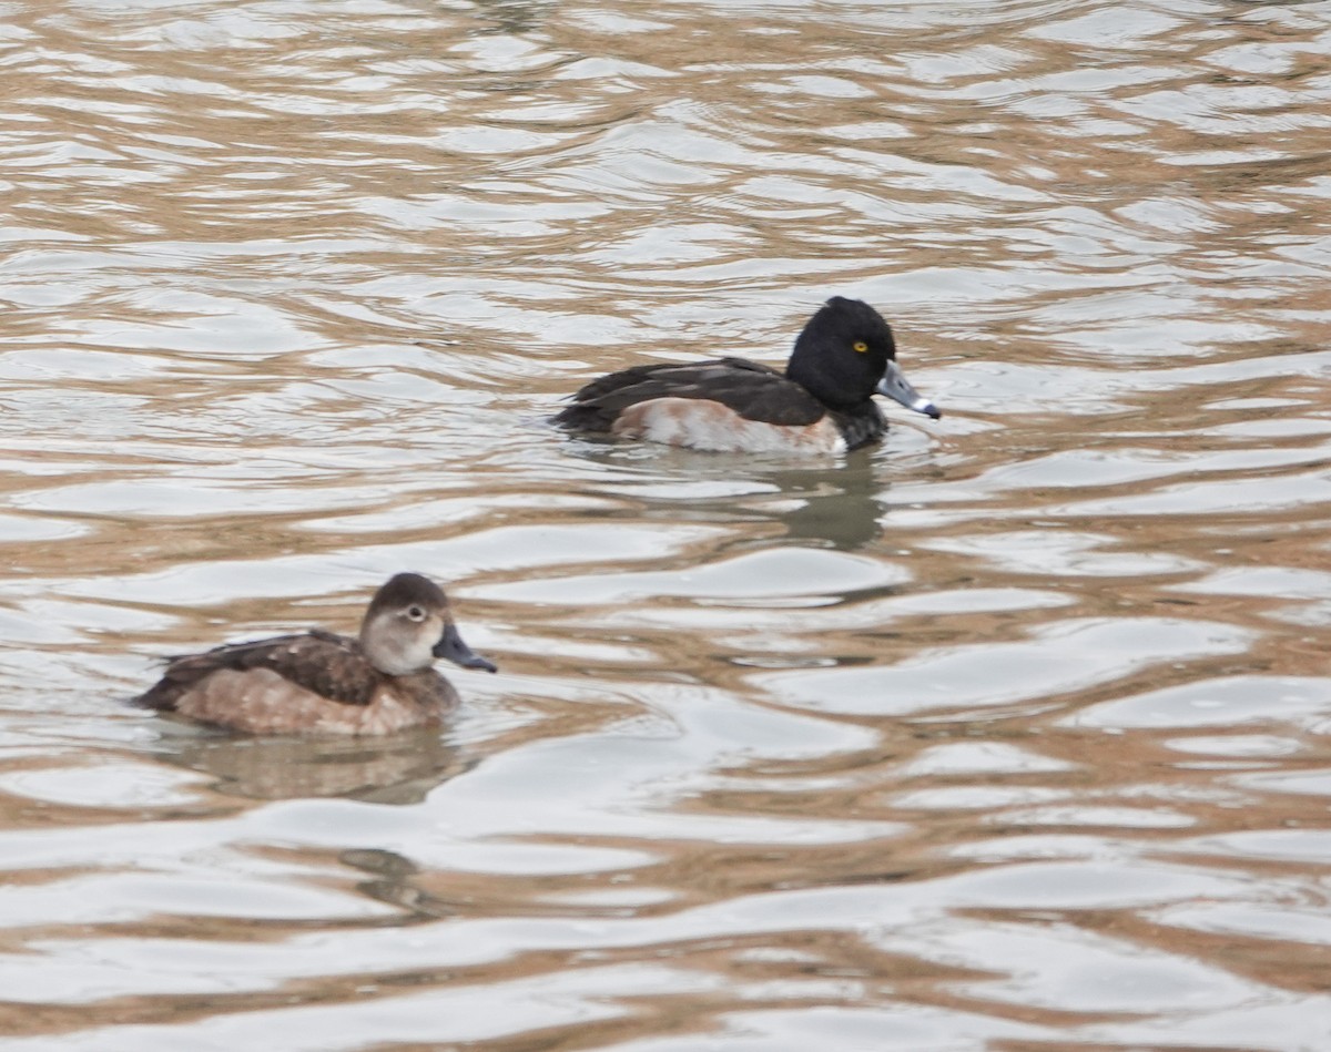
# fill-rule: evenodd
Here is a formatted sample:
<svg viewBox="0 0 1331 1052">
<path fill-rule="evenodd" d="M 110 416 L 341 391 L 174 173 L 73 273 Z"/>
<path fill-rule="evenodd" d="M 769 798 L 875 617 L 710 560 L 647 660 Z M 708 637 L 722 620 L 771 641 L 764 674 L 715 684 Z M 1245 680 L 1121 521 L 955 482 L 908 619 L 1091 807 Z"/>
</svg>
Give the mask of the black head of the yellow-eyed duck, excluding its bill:
<svg viewBox="0 0 1331 1052">
<path fill-rule="evenodd" d="M 882 315 L 864 301 L 835 295 L 795 340 L 785 375 L 824 406 L 848 410 L 873 396 L 896 356 Z"/>
</svg>

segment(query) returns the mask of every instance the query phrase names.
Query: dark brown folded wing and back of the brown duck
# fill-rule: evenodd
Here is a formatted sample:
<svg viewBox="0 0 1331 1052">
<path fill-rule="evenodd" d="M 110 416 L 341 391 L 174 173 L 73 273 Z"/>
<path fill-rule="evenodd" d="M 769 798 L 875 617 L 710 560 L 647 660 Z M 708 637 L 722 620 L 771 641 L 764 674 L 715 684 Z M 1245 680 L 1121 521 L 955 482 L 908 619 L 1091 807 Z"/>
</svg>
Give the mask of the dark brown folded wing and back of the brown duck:
<svg viewBox="0 0 1331 1052">
<path fill-rule="evenodd" d="M 149 709 L 174 709 L 182 694 L 220 669 L 270 669 L 297 686 L 346 705 L 369 705 L 383 678 L 355 640 L 315 629 L 172 658 L 162 678 L 136 701 Z"/>
</svg>

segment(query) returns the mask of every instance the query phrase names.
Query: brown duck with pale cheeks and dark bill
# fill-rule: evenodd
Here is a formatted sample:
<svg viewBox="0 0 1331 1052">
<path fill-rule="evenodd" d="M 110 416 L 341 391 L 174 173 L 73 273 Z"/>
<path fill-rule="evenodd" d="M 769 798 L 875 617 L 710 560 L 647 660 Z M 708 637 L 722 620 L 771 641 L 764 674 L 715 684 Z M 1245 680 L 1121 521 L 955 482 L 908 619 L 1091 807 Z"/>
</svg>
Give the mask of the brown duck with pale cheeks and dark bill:
<svg viewBox="0 0 1331 1052">
<path fill-rule="evenodd" d="M 458 708 L 433 668 L 441 657 L 496 670 L 462 641 L 439 585 L 398 573 L 374 593 L 355 638 L 315 628 L 168 658 L 134 702 L 249 734 L 393 734 Z"/>
</svg>

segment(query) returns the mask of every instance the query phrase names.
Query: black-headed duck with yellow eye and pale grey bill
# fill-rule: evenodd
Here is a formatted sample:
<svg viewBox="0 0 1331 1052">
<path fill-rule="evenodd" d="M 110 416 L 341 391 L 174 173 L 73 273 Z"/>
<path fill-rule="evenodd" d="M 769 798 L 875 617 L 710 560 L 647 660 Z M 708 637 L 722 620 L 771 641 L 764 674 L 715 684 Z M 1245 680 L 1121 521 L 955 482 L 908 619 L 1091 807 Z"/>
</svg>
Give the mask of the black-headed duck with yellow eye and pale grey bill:
<svg viewBox="0 0 1331 1052">
<path fill-rule="evenodd" d="M 552 423 L 713 452 L 847 452 L 888 430 L 874 394 L 942 416 L 896 358 L 882 315 L 837 295 L 805 323 L 784 374 L 744 358 L 634 366 L 586 384 Z"/>
</svg>

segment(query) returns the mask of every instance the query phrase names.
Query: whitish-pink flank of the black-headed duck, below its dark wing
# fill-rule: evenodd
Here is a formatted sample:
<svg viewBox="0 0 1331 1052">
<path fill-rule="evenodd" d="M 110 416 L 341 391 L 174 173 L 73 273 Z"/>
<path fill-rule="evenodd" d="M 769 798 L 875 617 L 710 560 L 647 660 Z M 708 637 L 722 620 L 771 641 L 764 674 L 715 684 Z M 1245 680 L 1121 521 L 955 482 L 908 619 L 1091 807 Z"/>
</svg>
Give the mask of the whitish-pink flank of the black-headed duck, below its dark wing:
<svg viewBox="0 0 1331 1052">
<path fill-rule="evenodd" d="M 713 452 L 845 452 L 845 439 L 828 416 L 804 427 L 764 424 L 745 420 L 735 410 L 700 398 L 639 402 L 619 414 L 611 434 Z"/>
</svg>

